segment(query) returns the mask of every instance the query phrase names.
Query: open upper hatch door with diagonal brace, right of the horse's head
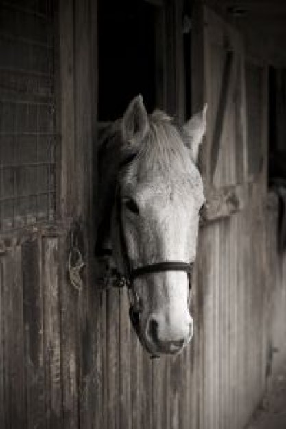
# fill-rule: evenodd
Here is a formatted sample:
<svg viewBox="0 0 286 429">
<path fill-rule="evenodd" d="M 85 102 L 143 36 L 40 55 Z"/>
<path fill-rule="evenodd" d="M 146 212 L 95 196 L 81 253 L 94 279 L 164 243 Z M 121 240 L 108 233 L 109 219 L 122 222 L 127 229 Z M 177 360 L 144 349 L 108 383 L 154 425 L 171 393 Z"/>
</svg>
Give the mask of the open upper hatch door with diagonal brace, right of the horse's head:
<svg viewBox="0 0 286 429">
<path fill-rule="evenodd" d="M 200 167 L 208 195 L 205 216 L 210 220 L 228 216 L 243 205 L 247 175 L 245 55 L 237 29 L 208 8 L 200 9 L 199 15 L 195 22 L 200 25 L 203 20 L 204 30 L 193 32 L 193 105 L 208 103 Z"/>
</svg>

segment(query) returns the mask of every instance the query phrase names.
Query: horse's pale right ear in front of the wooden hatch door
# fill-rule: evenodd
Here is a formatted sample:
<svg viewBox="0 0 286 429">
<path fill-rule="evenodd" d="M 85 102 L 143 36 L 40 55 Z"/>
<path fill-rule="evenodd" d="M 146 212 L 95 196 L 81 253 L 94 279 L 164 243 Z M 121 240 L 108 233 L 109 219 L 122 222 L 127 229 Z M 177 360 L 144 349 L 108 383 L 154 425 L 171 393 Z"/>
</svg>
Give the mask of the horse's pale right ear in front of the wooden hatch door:
<svg viewBox="0 0 286 429">
<path fill-rule="evenodd" d="M 206 132 L 206 109 L 208 105 L 204 105 L 204 109 L 201 112 L 195 114 L 187 123 L 184 124 L 183 130 L 187 134 L 187 147 L 191 151 L 191 159 L 193 162 L 197 162 L 198 150 L 202 138 Z"/>
</svg>

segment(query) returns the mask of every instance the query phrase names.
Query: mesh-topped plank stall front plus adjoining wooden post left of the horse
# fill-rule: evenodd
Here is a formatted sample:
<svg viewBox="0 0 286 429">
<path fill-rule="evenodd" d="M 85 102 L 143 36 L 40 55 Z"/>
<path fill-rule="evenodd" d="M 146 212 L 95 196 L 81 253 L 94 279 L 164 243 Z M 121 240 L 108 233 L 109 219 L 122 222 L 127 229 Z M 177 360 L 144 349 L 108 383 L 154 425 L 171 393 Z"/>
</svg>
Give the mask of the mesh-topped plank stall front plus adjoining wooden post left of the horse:
<svg viewBox="0 0 286 429">
<path fill-rule="evenodd" d="M 90 428 L 99 415 L 88 262 L 96 21 L 95 1 L 0 2 L 3 429 Z M 72 245 L 86 264 L 80 290 Z"/>
</svg>

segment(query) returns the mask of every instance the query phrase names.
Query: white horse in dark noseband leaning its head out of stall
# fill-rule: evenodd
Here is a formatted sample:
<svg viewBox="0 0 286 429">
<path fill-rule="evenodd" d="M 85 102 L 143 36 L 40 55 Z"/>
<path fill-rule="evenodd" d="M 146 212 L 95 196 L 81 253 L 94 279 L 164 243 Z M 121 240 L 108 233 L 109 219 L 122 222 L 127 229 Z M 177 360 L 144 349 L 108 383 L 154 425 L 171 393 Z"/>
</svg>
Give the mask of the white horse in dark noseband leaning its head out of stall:
<svg viewBox="0 0 286 429">
<path fill-rule="evenodd" d="M 132 324 L 154 356 L 178 353 L 193 335 L 189 286 L 204 204 L 195 164 L 205 128 L 206 106 L 179 129 L 159 110 L 148 116 L 139 95 L 99 149 L 96 253 L 105 281 L 117 272 L 126 280 Z"/>
</svg>

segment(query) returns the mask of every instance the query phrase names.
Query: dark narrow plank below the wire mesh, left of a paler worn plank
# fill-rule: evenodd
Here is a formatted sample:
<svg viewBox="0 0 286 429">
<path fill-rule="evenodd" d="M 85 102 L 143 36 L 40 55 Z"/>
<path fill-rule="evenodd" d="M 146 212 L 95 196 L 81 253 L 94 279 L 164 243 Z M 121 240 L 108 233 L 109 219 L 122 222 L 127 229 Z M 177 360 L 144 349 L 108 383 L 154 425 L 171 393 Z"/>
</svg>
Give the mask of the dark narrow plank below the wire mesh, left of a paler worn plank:
<svg viewBox="0 0 286 429">
<path fill-rule="evenodd" d="M 23 243 L 22 271 L 27 429 L 41 429 L 46 427 L 46 422 L 42 248 L 38 239 Z"/>
</svg>

